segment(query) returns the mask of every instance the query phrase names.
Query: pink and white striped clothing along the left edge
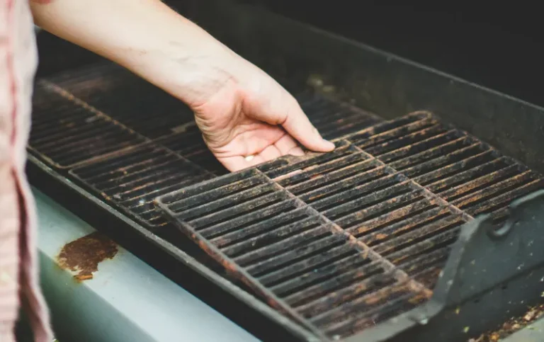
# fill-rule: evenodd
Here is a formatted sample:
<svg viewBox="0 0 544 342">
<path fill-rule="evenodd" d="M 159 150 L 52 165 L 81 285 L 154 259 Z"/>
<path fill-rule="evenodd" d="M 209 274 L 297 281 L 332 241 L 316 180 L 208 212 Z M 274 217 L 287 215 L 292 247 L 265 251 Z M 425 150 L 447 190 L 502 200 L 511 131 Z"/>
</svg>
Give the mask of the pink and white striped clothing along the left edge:
<svg viewBox="0 0 544 342">
<path fill-rule="evenodd" d="M 0 0 L 0 342 L 15 341 L 20 306 L 35 341 L 52 341 L 38 287 L 35 207 L 25 175 L 37 64 L 28 0 Z"/>
</svg>

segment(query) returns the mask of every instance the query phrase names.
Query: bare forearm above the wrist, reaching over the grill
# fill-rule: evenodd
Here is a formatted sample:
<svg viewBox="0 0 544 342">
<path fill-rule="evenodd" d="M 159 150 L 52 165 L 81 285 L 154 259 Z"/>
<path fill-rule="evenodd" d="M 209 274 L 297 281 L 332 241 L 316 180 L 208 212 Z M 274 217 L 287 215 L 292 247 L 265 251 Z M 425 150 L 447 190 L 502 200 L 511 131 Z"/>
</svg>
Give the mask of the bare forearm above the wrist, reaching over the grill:
<svg viewBox="0 0 544 342">
<path fill-rule="evenodd" d="M 242 59 L 159 0 L 32 3 L 35 23 L 127 67 L 190 105 L 205 101 Z M 210 70 L 214 72 L 210 73 Z M 213 74 L 213 81 L 205 78 Z M 204 78 L 204 80 L 203 80 Z M 221 79 L 221 78 L 224 78 Z"/>
</svg>

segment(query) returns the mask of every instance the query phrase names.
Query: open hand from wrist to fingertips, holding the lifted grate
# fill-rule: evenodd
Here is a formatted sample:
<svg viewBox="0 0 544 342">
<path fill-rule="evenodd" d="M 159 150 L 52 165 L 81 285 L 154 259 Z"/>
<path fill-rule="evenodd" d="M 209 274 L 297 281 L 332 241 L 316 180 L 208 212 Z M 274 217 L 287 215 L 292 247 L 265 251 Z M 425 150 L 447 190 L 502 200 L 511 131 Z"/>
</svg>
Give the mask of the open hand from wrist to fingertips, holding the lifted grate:
<svg viewBox="0 0 544 342">
<path fill-rule="evenodd" d="M 301 156 L 298 142 L 315 152 L 334 149 L 288 91 L 253 64 L 234 59 L 222 63 L 221 72 L 209 69 L 203 79 L 213 79 L 214 90 L 192 106 L 204 141 L 221 164 L 238 171 L 286 154 Z"/>
</svg>

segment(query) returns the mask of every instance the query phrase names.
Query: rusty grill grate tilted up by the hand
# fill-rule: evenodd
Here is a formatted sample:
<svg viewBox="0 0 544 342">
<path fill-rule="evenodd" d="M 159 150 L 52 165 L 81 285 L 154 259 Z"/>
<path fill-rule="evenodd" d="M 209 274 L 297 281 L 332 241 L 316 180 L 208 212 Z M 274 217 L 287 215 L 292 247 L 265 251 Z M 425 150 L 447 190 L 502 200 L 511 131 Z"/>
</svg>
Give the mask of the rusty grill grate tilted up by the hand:
<svg viewBox="0 0 544 342">
<path fill-rule="evenodd" d="M 162 195 L 157 205 L 274 307 L 343 338 L 432 295 L 460 226 L 541 176 L 429 113 Z"/>
</svg>

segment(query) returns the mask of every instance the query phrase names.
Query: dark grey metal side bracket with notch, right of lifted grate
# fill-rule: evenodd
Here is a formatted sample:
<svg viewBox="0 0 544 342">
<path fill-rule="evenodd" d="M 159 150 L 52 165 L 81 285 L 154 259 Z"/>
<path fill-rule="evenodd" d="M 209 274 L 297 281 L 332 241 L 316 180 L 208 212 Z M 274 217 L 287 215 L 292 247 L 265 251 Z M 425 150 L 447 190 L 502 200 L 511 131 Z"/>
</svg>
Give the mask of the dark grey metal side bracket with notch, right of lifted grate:
<svg viewBox="0 0 544 342">
<path fill-rule="evenodd" d="M 429 301 L 431 310 L 409 317 L 424 324 L 388 341 L 467 341 L 501 329 L 542 302 L 544 190 L 515 200 L 509 212 L 502 225 L 482 215 L 462 227 Z M 399 324 L 388 323 L 372 331 L 376 341 L 385 341 Z"/>
</svg>

